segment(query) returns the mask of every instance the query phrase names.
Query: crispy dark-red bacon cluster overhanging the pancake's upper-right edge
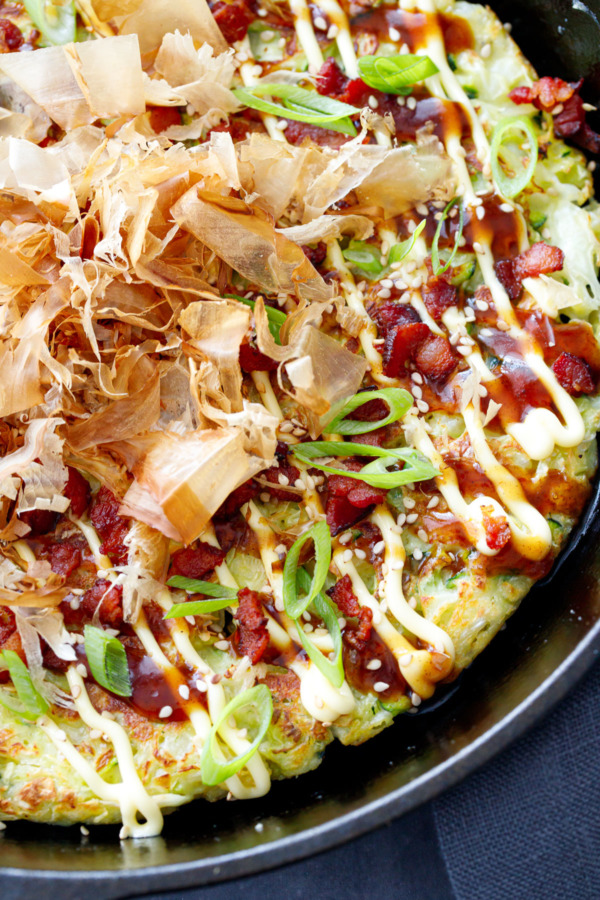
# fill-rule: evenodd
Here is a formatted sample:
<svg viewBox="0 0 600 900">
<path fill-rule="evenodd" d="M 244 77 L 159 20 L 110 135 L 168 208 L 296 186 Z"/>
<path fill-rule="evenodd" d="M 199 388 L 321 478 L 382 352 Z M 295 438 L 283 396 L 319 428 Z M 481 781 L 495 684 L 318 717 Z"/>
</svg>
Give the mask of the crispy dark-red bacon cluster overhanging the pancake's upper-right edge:
<svg viewBox="0 0 600 900">
<path fill-rule="evenodd" d="M 537 109 L 547 112 L 553 112 L 558 107 L 558 112 L 554 115 L 556 137 L 571 138 L 580 147 L 598 153 L 600 135 L 585 121 L 583 100 L 579 96 L 582 84 L 583 79 L 567 82 L 562 78 L 545 76 L 531 87 L 515 88 L 508 96 L 513 103 L 533 103 Z"/>
</svg>

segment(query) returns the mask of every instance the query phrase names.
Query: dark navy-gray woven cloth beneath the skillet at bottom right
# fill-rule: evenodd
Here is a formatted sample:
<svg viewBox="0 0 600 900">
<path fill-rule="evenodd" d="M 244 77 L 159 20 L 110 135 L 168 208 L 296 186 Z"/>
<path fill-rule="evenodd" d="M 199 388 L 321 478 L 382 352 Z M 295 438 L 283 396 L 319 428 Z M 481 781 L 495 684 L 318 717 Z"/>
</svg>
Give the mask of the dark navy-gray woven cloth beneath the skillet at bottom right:
<svg viewBox="0 0 600 900">
<path fill-rule="evenodd" d="M 600 664 L 532 732 L 386 828 L 148 900 L 600 900 Z"/>
</svg>

